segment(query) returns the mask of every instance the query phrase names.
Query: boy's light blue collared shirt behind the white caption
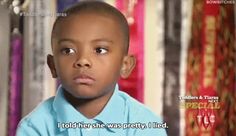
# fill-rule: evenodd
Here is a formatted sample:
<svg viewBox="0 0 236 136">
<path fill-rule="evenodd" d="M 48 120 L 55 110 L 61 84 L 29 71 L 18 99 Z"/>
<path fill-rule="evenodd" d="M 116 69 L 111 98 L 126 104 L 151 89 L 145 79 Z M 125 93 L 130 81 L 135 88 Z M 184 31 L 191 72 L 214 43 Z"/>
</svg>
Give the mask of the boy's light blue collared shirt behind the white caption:
<svg viewBox="0 0 236 136">
<path fill-rule="evenodd" d="M 18 125 L 17 136 L 166 136 L 161 119 L 116 86 L 104 109 L 93 119 L 78 112 L 59 87 Z"/>
</svg>

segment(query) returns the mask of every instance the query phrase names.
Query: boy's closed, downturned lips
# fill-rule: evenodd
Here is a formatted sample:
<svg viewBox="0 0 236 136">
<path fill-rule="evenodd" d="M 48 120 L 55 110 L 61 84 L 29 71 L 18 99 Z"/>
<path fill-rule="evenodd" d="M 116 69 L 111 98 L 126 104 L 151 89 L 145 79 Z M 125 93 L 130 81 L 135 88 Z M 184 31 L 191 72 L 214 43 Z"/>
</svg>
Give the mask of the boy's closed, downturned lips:
<svg viewBox="0 0 236 136">
<path fill-rule="evenodd" d="M 75 77 L 73 80 L 76 84 L 87 84 L 87 85 L 91 85 L 95 81 L 94 78 L 92 78 L 88 75 L 85 75 L 85 74 L 79 75 L 79 76 Z"/>
</svg>

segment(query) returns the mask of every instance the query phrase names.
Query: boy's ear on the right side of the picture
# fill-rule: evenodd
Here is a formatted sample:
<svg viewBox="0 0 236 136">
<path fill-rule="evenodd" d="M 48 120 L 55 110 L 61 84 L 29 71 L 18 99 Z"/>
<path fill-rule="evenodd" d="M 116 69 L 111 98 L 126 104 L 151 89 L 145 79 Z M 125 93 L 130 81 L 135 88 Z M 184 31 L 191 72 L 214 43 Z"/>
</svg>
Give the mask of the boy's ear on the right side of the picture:
<svg viewBox="0 0 236 136">
<path fill-rule="evenodd" d="M 129 77 L 130 73 L 134 69 L 136 64 L 136 59 L 133 55 L 127 55 L 123 59 L 123 64 L 120 71 L 120 76 L 122 78 Z"/>
</svg>

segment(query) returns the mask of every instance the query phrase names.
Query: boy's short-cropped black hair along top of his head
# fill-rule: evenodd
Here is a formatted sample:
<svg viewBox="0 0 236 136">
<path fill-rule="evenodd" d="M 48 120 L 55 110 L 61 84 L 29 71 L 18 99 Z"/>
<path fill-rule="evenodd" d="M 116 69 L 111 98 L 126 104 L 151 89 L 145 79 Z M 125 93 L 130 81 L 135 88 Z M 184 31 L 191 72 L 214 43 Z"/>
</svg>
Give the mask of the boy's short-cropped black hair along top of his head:
<svg viewBox="0 0 236 136">
<path fill-rule="evenodd" d="M 122 31 L 122 34 L 123 34 L 124 44 L 126 45 L 126 53 L 128 53 L 129 25 L 128 25 L 127 20 L 125 16 L 119 10 L 117 10 L 115 7 L 102 1 L 95 1 L 95 0 L 81 1 L 75 4 L 74 6 L 64 10 L 62 14 L 64 14 L 65 16 L 58 16 L 53 24 L 51 41 L 52 41 L 53 35 L 55 34 L 55 30 L 56 30 L 56 26 L 58 22 L 60 22 L 66 17 L 80 14 L 80 13 L 81 14 L 82 13 L 95 13 L 95 14 L 112 16 L 121 28 L 120 30 Z"/>
</svg>

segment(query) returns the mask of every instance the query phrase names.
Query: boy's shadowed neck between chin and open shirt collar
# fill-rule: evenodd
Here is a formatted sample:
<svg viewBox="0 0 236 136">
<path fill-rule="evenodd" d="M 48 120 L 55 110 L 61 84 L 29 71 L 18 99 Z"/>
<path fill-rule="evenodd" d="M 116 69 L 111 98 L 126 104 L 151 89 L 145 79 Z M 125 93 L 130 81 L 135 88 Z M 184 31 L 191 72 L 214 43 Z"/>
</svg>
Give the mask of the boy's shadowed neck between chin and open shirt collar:
<svg viewBox="0 0 236 136">
<path fill-rule="evenodd" d="M 66 100 L 88 119 L 96 117 L 106 106 L 114 91 L 94 99 L 79 99 L 64 91 Z"/>
</svg>

